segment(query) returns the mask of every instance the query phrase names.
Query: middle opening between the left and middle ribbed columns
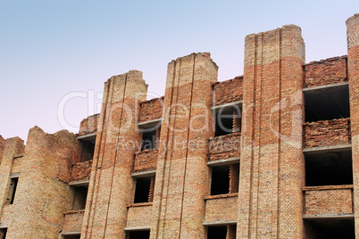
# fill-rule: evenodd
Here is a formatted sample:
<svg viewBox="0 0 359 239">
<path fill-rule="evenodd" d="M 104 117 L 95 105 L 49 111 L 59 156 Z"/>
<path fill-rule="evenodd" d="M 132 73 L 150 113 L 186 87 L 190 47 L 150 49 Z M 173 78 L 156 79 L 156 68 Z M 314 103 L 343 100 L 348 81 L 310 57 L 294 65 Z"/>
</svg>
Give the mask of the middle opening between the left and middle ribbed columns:
<svg viewBox="0 0 359 239">
<path fill-rule="evenodd" d="M 154 176 L 137 177 L 134 203 L 153 202 Z"/>
</svg>

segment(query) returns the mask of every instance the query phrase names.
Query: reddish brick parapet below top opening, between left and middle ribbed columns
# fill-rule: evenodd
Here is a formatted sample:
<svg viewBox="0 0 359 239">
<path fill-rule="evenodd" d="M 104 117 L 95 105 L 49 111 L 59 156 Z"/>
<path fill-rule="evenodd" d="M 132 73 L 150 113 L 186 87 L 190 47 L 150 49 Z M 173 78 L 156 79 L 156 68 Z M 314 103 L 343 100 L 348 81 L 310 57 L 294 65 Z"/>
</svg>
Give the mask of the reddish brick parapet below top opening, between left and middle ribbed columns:
<svg viewBox="0 0 359 239">
<path fill-rule="evenodd" d="M 137 152 L 135 155 L 134 171 L 153 170 L 157 167 L 158 149 L 144 150 Z"/>
</svg>

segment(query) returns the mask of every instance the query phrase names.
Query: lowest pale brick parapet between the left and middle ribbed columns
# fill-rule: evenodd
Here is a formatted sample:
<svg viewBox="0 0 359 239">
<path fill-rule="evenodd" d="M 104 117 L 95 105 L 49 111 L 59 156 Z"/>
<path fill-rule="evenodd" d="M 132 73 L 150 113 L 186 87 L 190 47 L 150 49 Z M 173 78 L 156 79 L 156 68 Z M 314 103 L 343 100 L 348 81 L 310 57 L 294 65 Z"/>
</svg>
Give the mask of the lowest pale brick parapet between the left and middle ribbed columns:
<svg viewBox="0 0 359 239">
<path fill-rule="evenodd" d="M 126 227 L 150 227 L 152 202 L 137 203 L 129 206 Z"/>
</svg>

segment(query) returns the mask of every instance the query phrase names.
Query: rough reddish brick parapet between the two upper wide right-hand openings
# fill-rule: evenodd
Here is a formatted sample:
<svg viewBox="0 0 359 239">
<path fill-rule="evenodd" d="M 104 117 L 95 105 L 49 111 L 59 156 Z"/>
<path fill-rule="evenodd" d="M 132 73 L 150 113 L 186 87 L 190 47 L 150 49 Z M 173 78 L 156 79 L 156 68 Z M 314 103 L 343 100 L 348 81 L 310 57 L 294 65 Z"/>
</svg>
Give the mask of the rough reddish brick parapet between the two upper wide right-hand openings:
<svg viewBox="0 0 359 239">
<path fill-rule="evenodd" d="M 305 148 L 350 144 L 350 119 L 333 119 L 304 124 Z"/>
</svg>

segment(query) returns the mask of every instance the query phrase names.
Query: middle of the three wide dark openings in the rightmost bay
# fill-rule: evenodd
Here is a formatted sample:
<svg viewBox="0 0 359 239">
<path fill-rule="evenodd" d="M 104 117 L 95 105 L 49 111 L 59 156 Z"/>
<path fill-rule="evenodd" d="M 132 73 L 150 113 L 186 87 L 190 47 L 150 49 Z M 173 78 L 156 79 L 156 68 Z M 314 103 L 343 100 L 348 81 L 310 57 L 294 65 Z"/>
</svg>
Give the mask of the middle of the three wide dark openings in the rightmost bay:
<svg viewBox="0 0 359 239">
<path fill-rule="evenodd" d="M 305 185 L 353 185 L 352 151 L 305 154 Z"/>
</svg>

